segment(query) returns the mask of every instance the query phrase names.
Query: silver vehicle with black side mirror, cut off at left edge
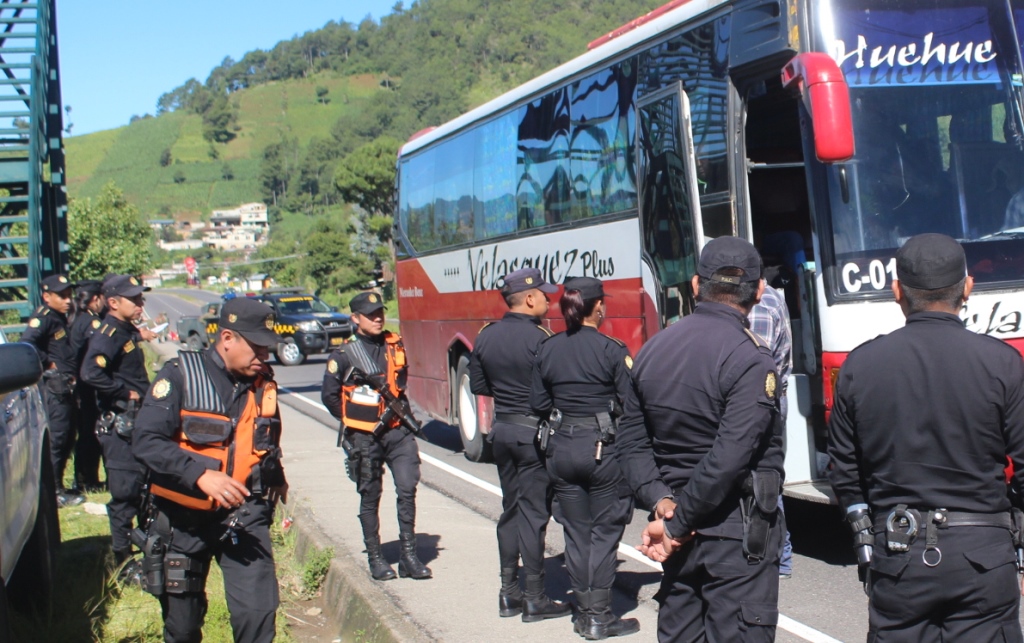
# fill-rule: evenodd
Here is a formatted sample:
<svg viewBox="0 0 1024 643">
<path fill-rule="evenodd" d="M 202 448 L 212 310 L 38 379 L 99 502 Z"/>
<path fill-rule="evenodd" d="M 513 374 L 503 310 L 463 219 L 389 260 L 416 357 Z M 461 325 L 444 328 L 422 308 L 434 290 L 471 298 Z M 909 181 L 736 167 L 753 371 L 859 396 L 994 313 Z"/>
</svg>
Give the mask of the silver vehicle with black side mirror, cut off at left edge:
<svg viewBox="0 0 1024 643">
<path fill-rule="evenodd" d="M 49 617 L 60 523 L 39 353 L 0 332 L 0 643 L 10 643 L 8 600 Z"/>
</svg>

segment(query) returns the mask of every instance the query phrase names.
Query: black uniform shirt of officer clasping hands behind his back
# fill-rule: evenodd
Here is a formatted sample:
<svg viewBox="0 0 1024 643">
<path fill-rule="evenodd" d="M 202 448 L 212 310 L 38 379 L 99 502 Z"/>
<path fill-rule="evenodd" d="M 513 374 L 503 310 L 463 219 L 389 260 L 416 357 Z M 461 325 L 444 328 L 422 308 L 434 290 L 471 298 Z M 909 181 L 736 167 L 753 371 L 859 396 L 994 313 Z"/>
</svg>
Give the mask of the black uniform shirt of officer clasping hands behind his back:
<svg viewBox="0 0 1024 643">
<path fill-rule="evenodd" d="M 648 341 L 618 427 L 627 480 L 648 508 L 678 503 L 669 530 L 742 537 L 739 487 L 782 471 L 771 351 L 731 306 L 700 302 Z M 675 492 L 673 491 L 675 489 Z"/>
</svg>

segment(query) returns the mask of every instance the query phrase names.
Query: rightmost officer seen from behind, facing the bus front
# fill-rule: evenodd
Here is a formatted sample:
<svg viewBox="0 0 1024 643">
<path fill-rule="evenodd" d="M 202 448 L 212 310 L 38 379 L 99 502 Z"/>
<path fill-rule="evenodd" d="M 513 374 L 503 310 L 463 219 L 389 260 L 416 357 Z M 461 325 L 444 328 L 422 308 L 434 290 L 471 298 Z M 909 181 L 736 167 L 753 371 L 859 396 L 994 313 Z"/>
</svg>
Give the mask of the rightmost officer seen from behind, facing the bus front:
<svg viewBox="0 0 1024 643">
<path fill-rule="evenodd" d="M 954 240 L 910 238 L 892 285 L 906 326 L 840 370 L 828 478 L 869 566 L 869 641 L 1022 640 L 1004 467 L 1019 505 L 1024 362 L 964 328 L 973 286 Z"/>
</svg>

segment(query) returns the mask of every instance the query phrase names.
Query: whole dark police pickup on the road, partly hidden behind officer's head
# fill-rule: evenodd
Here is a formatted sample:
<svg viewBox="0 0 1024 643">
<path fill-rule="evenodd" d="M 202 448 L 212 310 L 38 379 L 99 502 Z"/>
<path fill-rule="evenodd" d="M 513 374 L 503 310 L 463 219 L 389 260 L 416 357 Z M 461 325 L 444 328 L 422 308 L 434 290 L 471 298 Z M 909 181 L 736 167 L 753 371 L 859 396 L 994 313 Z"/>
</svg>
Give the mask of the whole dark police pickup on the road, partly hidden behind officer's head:
<svg viewBox="0 0 1024 643">
<path fill-rule="evenodd" d="M 306 356 L 334 350 L 352 334 L 348 315 L 298 288 L 273 288 L 255 298 L 273 308 L 274 330 L 285 341 L 270 348 L 279 363 L 294 367 Z M 201 316 L 178 319 L 178 341 L 202 350 L 216 336 L 220 304 L 208 304 Z"/>
</svg>

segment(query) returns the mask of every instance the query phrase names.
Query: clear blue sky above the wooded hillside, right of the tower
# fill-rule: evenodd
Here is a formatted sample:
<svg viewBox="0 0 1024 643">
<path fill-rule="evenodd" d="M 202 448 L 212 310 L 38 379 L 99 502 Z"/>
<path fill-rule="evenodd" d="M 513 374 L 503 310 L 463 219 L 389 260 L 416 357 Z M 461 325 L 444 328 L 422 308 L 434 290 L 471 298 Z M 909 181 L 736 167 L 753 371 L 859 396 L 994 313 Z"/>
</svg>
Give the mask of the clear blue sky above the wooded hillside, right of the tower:
<svg viewBox="0 0 1024 643">
<path fill-rule="evenodd" d="M 411 3 L 407 2 L 406 6 Z M 319 29 L 379 20 L 395 0 L 57 0 L 65 125 L 72 135 L 155 114 L 161 94 L 206 81 L 225 56 Z"/>
</svg>

